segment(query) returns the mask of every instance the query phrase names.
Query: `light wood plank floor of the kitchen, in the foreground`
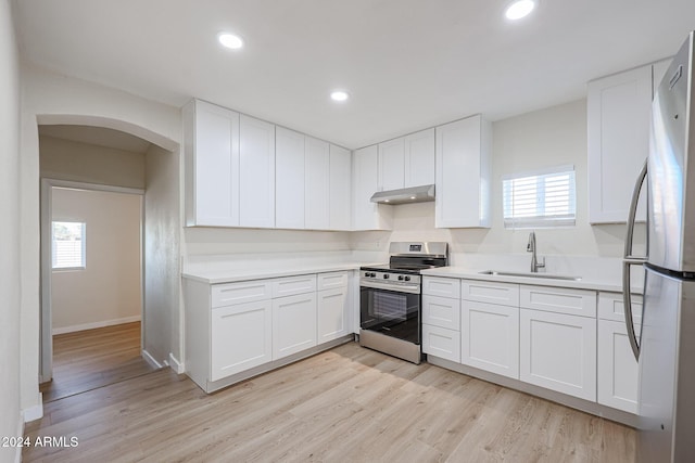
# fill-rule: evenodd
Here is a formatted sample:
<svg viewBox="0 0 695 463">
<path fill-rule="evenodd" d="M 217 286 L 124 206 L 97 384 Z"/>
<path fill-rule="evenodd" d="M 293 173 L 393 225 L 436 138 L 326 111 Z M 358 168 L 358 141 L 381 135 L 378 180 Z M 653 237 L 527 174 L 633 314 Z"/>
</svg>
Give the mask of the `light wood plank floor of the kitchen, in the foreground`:
<svg viewBox="0 0 695 463">
<path fill-rule="evenodd" d="M 631 462 L 634 430 L 355 343 L 205 395 L 157 371 L 48 403 L 25 462 Z"/>
</svg>

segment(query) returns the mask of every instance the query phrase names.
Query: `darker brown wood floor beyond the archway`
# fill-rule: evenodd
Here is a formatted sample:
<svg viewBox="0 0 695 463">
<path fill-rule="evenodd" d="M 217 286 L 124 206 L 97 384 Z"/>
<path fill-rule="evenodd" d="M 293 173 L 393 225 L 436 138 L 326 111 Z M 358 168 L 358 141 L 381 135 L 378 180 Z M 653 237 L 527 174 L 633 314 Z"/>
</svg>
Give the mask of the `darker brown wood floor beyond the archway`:
<svg viewBox="0 0 695 463">
<path fill-rule="evenodd" d="M 150 373 L 140 350 L 140 322 L 53 336 L 53 381 L 40 386 L 43 402 Z"/>
</svg>

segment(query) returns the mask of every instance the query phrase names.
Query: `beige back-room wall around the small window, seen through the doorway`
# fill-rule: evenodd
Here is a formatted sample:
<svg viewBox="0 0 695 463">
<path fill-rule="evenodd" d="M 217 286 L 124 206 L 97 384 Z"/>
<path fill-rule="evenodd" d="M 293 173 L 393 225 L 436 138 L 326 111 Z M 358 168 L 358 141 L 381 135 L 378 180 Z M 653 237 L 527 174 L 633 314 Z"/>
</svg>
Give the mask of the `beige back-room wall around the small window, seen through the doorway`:
<svg viewBox="0 0 695 463">
<path fill-rule="evenodd" d="M 86 223 L 85 269 L 51 275 L 54 334 L 140 320 L 141 200 L 53 188 L 52 220 Z"/>
</svg>

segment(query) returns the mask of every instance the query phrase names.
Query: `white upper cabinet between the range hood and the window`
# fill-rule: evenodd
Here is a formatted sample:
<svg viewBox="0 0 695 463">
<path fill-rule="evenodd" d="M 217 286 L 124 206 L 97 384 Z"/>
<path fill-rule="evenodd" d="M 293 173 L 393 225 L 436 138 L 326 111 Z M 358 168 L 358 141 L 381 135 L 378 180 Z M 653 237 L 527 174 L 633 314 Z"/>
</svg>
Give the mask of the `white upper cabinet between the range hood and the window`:
<svg viewBox="0 0 695 463">
<path fill-rule="evenodd" d="M 480 115 L 437 127 L 437 228 L 490 227 L 490 133 Z"/>
</svg>

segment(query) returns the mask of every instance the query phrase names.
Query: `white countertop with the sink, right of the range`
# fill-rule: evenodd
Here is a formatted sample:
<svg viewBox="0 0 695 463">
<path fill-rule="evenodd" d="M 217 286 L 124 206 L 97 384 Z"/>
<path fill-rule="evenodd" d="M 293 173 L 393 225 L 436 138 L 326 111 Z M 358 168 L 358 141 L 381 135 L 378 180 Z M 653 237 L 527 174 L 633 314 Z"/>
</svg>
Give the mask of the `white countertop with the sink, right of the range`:
<svg viewBox="0 0 695 463">
<path fill-rule="evenodd" d="M 426 276 L 443 276 L 443 278 L 458 278 L 466 280 L 481 280 L 481 281 L 496 281 L 505 283 L 518 283 L 518 284 L 533 284 L 536 286 L 555 286 L 555 287 L 570 287 L 577 290 L 593 290 L 593 291 L 608 291 L 614 293 L 621 293 L 622 285 L 619 281 L 596 281 L 591 276 L 581 276 L 581 280 L 556 280 L 541 276 L 517 276 L 517 275 L 494 275 L 483 274 L 481 271 L 489 269 L 470 269 L 464 267 L 440 267 L 437 269 L 422 270 L 421 274 Z M 543 273 L 539 273 L 543 274 Z M 642 293 L 642 288 L 632 287 L 633 293 Z"/>
</svg>

